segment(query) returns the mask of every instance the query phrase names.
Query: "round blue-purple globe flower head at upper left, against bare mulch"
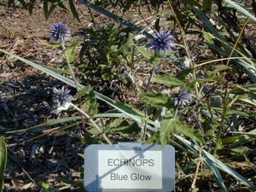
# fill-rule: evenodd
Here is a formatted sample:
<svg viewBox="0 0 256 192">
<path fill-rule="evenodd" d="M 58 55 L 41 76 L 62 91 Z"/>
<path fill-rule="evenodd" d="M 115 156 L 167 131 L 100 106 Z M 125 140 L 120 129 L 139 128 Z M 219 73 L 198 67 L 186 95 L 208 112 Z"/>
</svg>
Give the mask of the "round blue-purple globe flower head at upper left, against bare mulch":
<svg viewBox="0 0 256 192">
<path fill-rule="evenodd" d="M 66 23 L 57 21 L 49 27 L 49 34 L 55 41 L 65 41 L 70 36 L 70 28 Z"/>
</svg>

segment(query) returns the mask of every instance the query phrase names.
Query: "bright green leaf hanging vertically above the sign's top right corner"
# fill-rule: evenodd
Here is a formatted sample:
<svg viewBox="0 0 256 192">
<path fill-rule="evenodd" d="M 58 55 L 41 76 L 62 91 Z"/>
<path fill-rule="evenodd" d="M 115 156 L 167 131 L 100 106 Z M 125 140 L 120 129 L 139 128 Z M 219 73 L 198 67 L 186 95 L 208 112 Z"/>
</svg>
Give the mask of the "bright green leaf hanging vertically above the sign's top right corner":
<svg viewBox="0 0 256 192">
<path fill-rule="evenodd" d="M 172 118 L 170 113 L 167 113 L 160 125 L 160 143 L 165 146 L 169 138 L 172 135 L 172 132 L 175 131 L 177 119 Z"/>
</svg>

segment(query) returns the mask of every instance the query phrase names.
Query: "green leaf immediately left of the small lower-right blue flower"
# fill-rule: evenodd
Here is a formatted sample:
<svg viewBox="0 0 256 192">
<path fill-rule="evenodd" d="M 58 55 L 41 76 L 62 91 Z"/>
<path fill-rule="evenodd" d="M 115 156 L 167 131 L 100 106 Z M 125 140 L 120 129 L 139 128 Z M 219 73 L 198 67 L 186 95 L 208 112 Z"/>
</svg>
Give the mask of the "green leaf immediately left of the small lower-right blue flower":
<svg viewBox="0 0 256 192">
<path fill-rule="evenodd" d="M 168 103 L 171 103 L 171 97 L 166 96 L 165 94 L 162 94 L 160 92 L 149 92 L 149 93 L 143 93 L 142 95 L 143 102 L 146 102 L 150 106 L 154 107 L 162 107 L 168 105 Z"/>
</svg>

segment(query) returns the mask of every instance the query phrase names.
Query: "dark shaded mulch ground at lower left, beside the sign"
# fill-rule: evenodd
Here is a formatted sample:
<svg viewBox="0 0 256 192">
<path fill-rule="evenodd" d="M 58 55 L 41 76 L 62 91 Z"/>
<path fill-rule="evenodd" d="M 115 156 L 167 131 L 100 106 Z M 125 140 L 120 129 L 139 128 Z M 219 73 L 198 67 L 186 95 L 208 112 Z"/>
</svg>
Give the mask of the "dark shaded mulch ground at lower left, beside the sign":
<svg viewBox="0 0 256 192">
<path fill-rule="evenodd" d="M 54 108 L 52 90 L 62 85 L 45 75 L 0 83 L 0 135 L 5 137 L 9 151 L 3 191 L 39 191 L 42 182 L 61 187 L 63 180 L 72 183 L 65 191 L 83 189 L 84 161 L 78 154 L 83 154 L 84 144 L 73 134 L 79 132 L 78 126 L 71 127 L 72 134 L 60 131 L 48 135 L 53 127 L 18 131 L 56 119 L 50 113 Z"/>
</svg>

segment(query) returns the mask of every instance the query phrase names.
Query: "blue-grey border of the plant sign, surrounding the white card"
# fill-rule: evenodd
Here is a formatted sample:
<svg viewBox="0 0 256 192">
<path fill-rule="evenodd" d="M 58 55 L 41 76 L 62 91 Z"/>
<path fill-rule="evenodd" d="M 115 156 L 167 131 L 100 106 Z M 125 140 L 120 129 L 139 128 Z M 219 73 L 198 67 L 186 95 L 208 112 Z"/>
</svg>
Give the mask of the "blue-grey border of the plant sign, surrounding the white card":
<svg viewBox="0 0 256 192">
<path fill-rule="evenodd" d="M 162 151 L 162 189 L 100 189 L 98 176 L 98 150 Z M 175 186 L 175 151 L 171 145 L 140 143 L 92 144 L 84 149 L 84 188 L 90 192 L 110 191 L 172 191 Z"/>
</svg>

